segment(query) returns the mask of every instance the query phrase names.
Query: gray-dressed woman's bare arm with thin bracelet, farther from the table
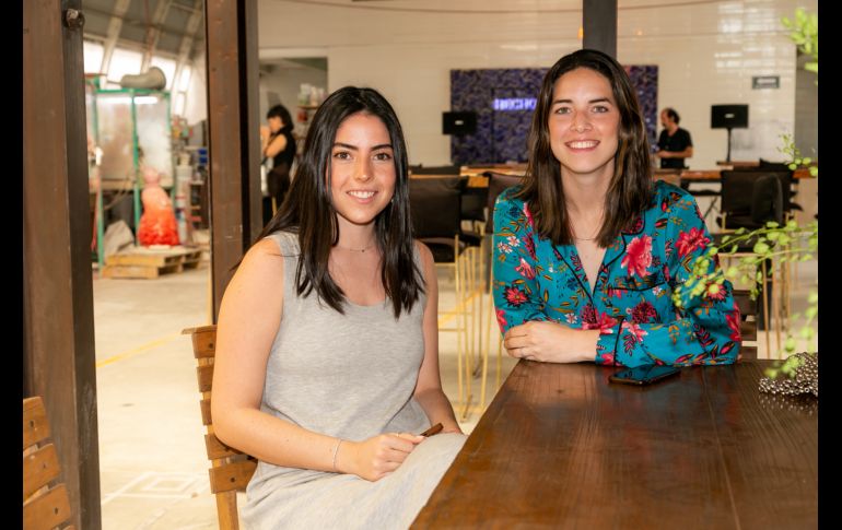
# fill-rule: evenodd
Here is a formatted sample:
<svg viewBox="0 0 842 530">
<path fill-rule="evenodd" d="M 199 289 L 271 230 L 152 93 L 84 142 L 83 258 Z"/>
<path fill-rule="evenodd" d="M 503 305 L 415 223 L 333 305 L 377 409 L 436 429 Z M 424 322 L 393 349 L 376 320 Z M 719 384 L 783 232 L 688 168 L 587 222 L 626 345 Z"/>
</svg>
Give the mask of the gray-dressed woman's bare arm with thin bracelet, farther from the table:
<svg viewBox="0 0 842 530">
<path fill-rule="evenodd" d="M 366 480 L 397 469 L 422 438 L 383 434 L 342 440 L 339 446 L 334 436 L 260 411 L 266 364 L 282 308 L 283 258 L 277 245 L 265 239 L 246 254 L 220 307 L 211 400 L 217 436 L 277 466 L 353 473 Z"/>
</svg>

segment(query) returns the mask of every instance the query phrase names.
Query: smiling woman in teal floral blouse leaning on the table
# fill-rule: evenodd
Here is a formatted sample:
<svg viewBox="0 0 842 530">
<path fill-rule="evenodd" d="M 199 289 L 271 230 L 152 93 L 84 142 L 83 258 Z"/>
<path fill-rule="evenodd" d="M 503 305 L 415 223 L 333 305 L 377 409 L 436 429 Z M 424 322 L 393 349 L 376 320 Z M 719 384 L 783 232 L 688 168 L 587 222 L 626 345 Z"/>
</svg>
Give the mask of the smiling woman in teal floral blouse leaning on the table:
<svg viewBox="0 0 842 530">
<path fill-rule="evenodd" d="M 510 355 L 734 363 L 739 310 L 729 282 L 680 309 L 673 303 L 711 237 L 692 196 L 653 181 L 623 68 L 596 50 L 562 57 L 543 79 L 529 151 L 524 184 L 494 209 L 494 304 Z"/>
</svg>

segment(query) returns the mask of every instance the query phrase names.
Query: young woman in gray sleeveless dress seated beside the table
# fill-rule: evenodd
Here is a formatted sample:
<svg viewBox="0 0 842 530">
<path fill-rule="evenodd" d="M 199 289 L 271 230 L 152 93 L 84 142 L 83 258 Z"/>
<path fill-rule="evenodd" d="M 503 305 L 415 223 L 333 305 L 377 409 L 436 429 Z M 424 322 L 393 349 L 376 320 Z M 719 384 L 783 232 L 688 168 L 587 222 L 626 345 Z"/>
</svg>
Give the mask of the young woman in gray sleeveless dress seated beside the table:
<svg viewBox="0 0 842 530">
<path fill-rule="evenodd" d="M 248 528 L 407 528 L 465 441 L 407 166 L 379 93 L 331 94 L 289 200 L 225 291 L 212 414 L 222 441 L 258 459 Z M 418 435 L 436 423 L 443 434 Z"/>
</svg>

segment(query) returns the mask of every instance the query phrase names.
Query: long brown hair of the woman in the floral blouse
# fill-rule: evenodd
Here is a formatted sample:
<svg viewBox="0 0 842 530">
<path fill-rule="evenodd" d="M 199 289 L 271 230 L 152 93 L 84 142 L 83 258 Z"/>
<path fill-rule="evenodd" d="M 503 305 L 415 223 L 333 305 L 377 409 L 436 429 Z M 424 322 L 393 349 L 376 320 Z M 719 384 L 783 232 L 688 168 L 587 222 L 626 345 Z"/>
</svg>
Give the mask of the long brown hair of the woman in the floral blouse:
<svg viewBox="0 0 842 530">
<path fill-rule="evenodd" d="M 623 67 L 610 56 L 581 49 L 559 59 L 545 75 L 529 132 L 529 162 L 524 188 L 517 197 L 528 202 L 538 234 L 557 245 L 573 243 L 561 184 L 561 164 L 550 148 L 548 120 L 556 81 L 577 68 L 594 70 L 608 80 L 620 111 L 615 170 L 605 197 L 605 220 L 597 235 L 597 243 L 606 248 L 620 232 L 630 227 L 652 198 L 650 146 L 638 96 Z"/>
</svg>

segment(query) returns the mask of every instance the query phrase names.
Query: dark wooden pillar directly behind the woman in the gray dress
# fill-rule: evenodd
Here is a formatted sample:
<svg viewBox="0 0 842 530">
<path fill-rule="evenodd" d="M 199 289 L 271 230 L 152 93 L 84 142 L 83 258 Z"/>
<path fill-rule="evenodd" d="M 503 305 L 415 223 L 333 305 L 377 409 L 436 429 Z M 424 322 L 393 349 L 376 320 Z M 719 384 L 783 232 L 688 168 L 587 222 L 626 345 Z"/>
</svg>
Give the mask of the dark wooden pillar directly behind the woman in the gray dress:
<svg viewBox="0 0 842 530">
<path fill-rule="evenodd" d="M 257 0 L 208 0 L 213 321 L 231 268 L 262 228 Z"/>
</svg>

